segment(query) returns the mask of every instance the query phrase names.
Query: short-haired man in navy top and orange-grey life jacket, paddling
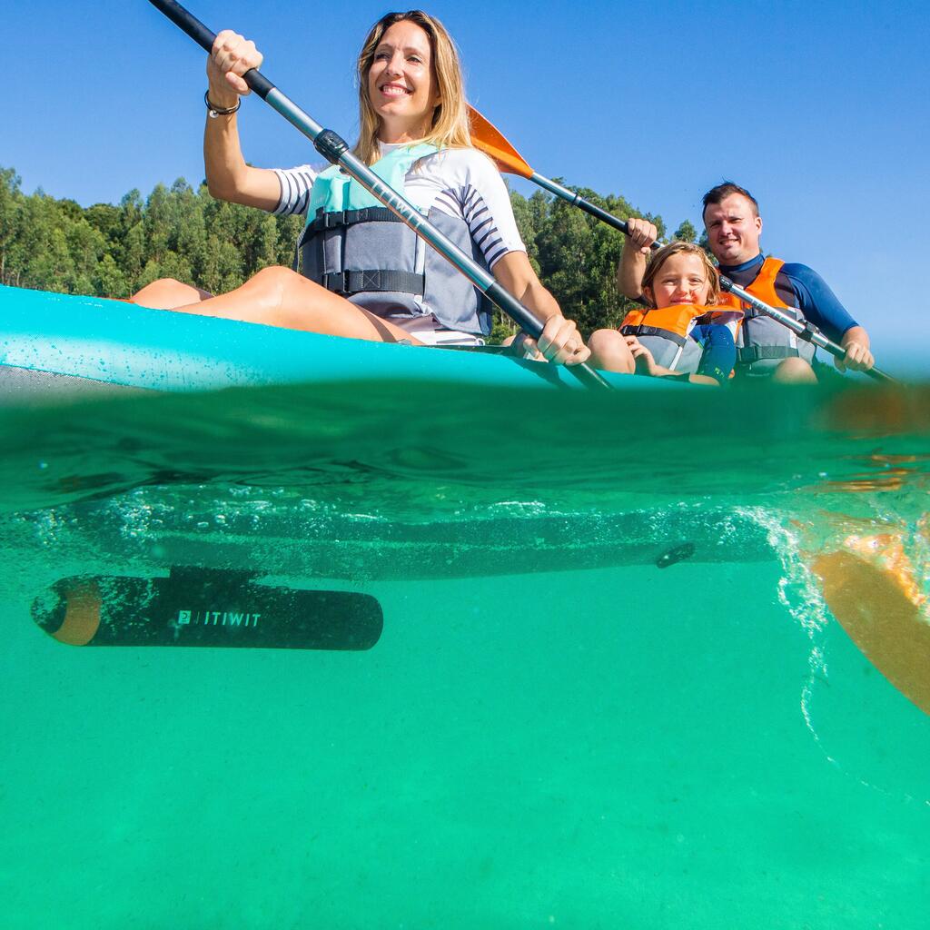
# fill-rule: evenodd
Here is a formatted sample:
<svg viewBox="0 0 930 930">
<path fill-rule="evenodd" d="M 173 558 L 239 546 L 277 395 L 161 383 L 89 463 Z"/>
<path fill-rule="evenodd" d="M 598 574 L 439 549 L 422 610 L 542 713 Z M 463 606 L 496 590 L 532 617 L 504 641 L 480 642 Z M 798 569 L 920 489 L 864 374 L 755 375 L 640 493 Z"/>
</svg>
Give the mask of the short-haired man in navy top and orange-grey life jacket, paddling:
<svg viewBox="0 0 930 930">
<path fill-rule="evenodd" d="M 724 181 L 704 194 L 704 226 L 708 245 L 720 263 L 720 271 L 734 284 L 748 290 L 771 307 L 810 321 L 839 342 L 844 358 L 836 360 L 841 371 L 865 371 L 874 364 L 869 334 L 849 315 L 823 278 L 806 265 L 764 259 L 759 247 L 763 222 L 759 205 L 745 188 Z M 629 245 L 618 268 L 618 286 L 627 297 L 641 294 L 646 257 L 656 240 L 656 227 L 643 219 L 631 219 Z M 631 247 L 632 246 L 632 247 Z M 741 307 L 731 295 L 726 302 Z M 771 376 L 778 381 L 817 380 L 814 346 L 797 337 L 771 317 L 743 307 L 746 315 L 737 331 L 737 375 Z"/>
</svg>

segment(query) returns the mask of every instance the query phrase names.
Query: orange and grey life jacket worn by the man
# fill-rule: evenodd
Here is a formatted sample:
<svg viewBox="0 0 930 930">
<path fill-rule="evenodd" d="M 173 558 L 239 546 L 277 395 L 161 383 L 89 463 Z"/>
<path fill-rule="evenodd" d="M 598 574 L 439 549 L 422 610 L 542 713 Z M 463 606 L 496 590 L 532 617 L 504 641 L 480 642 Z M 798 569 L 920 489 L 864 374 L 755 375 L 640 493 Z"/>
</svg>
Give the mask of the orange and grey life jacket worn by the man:
<svg viewBox="0 0 930 930">
<path fill-rule="evenodd" d="M 770 307 L 786 312 L 804 323 L 804 313 L 778 297 L 775 283 L 782 265 L 784 262 L 780 259 L 765 259 L 751 285 L 743 289 Z M 736 334 L 738 370 L 752 375 L 765 375 L 771 374 L 786 358 L 803 358 L 808 365 L 813 362 L 815 347 L 804 339 L 798 339 L 787 326 L 753 310 L 732 294 L 721 294 L 720 302 L 743 311 L 742 324 Z"/>
</svg>

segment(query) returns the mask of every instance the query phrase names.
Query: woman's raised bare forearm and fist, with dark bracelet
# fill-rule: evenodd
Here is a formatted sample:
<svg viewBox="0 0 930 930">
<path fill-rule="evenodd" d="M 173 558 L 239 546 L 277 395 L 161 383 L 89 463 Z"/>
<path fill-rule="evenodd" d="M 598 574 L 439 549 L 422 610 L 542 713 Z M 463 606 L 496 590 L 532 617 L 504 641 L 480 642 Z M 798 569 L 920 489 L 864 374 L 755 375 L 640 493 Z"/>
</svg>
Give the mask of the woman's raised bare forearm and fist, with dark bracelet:
<svg viewBox="0 0 930 930">
<path fill-rule="evenodd" d="M 206 60 L 207 99 L 221 110 L 234 107 L 251 91 L 242 75 L 259 68 L 262 55 L 255 43 L 224 29 Z M 216 118 L 207 114 L 204 129 L 206 186 L 211 196 L 233 204 L 273 210 L 281 199 L 281 184 L 268 168 L 246 165 L 239 145 L 237 113 Z"/>
</svg>

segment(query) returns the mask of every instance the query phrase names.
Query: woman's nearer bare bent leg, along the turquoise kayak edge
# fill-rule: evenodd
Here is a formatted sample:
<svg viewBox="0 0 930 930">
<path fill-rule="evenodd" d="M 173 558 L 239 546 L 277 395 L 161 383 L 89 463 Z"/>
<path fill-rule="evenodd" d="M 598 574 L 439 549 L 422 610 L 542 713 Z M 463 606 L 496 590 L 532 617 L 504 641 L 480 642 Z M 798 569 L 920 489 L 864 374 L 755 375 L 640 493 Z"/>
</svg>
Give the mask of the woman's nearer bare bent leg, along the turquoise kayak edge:
<svg viewBox="0 0 930 930">
<path fill-rule="evenodd" d="M 156 282 L 157 284 L 157 282 Z M 186 287 L 186 285 L 181 285 Z M 191 291 L 195 288 L 191 288 Z M 136 295 L 134 302 L 138 301 Z M 285 329 L 302 329 L 327 336 L 367 339 L 373 342 L 409 340 L 422 345 L 400 326 L 354 306 L 289 268 L 265 268 L 241 287 L 219 297 L 194 299 L 166 307 L 179 313 L 218 316 L 246 323 L 263 323 Z"/>
</svg>

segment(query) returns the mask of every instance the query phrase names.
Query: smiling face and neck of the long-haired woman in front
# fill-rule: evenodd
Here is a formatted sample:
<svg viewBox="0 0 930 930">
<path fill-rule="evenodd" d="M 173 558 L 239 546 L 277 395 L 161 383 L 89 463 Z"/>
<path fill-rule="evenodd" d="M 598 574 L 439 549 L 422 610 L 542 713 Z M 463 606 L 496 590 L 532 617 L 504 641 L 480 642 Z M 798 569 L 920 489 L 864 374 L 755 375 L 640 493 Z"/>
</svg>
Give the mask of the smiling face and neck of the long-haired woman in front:
<svg viewBox="0 0 930 930">
<path fill-rule="evenodd" d="M 439 90 L 430 36 L 415 22 L 395 22 L 381 36 L 368 71 L 368 100 L 381 118 L 382 142 L 422 139 L 432 127 Z"/>
</svg>

